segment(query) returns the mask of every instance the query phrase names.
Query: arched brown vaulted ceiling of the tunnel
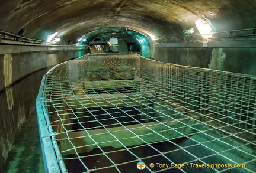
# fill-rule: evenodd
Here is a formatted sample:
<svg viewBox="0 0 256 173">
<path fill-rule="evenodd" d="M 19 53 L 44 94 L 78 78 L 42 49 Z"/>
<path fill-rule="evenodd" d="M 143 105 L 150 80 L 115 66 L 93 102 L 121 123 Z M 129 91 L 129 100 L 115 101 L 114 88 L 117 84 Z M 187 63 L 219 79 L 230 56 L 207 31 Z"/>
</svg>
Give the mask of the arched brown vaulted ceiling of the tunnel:
<svg viewBox="0 0 256 173">
<path fill-rule="evenodd" d="M 104 28 L 130 28 L 157 38 L 183 34 L 197 19 L 215 31 L 256 27 L 255 0 L 1 0 L 0 30 L 63 41 Z"/>
</svg>

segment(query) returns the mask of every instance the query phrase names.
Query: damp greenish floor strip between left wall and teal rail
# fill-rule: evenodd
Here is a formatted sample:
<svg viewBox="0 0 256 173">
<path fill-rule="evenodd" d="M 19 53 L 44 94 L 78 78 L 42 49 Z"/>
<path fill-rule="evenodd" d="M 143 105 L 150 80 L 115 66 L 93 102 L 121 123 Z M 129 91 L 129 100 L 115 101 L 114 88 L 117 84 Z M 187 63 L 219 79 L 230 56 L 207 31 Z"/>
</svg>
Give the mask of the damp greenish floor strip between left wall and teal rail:
<svg viewBox="0 0 256 173">
<path fill-rule="evenodd" d="M 43 157 L 36 110 L 28 117 L 12 145 L 3 173 L 43 173 Z"/>
</svg>

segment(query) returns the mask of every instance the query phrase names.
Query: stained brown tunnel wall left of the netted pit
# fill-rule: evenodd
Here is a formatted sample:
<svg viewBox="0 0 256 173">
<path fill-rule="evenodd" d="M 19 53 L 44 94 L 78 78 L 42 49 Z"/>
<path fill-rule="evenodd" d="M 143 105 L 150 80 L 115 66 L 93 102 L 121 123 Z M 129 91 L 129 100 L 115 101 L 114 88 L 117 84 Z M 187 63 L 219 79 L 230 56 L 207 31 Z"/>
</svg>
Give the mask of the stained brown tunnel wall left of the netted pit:
<svg viewBox="0 0 256 173">
<path fill-rule="evenodd" d="M 77 48 L 0 45 L 0 172 L 15 136 L 34 110 L 43 74 L 84 53 Z"/>
</svg>

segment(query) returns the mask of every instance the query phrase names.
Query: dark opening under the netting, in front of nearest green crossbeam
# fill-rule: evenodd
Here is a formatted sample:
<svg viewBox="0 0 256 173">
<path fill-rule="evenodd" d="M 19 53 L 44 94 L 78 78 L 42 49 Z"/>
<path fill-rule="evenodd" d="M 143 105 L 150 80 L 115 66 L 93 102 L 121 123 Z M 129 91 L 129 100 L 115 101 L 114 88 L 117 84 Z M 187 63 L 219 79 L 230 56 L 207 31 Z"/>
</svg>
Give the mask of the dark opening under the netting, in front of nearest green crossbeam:
<svg viewBox="0 0 256 173">
<path fill-rule="evenodd" d="M 178 138 L 174 139 L 171 142 L 174 143 L 180 143 L 185 141 L 187 138 Z M 65 165 L 69 172 L 86 172 L 88 169 L 91 170 L 91 172 L 118 172 L 115 167 L 113 167 L 114 164 L 121 164 L 117 165 L 117 168 L 120 172 L 152 172 L 152 171 L 159 171 L 161 169 L 165 168 L 157 168 L 156 163 L 161 164 L 168 164 L 170 165 L 170 161 L 167 160 L 164 156 L 159 154 L 160 152 L 168 152 L 168 151 L 174 151 L 178 147 L 174 145 L 173 143 L 165 141 L 165 142 L 157 142 L 153 143 L 151 146 L 143 145 L 143 146 L 133 146 L 129 149 L 125 148 L 113 148 L 113 147 L 104 147 L 104 148 L 95 148 L 91 152 L 82 153 L 79 154 L 81 156 L 81 159 L 77 159 L 77 156 L 75 154 L 72 155 L 66 155 L 65 158 Z M 102 150 L 102 151 L 101 151 Z M 157 151 L 158 150 L 158 151 Z M 104 152 L 104 154 L 103 154 Z M 143 162 L 149 167 L 149 164 L 155 163 L 154 168 L 150 168 L 151 171 L 149 171 L 147 168 L 143 170 L 137 169 L 137 162 L 139 160 L 136 158 L 136 156 L 142 159 Z M 173 162 L 177 162 L 177 153 L 175 154 L 166 154 L 165 156 L 168 157 Z M 110 161 L 113 161 L 113 163 Z M 87 168 L 85 168 L 87 167 Z M 111 168 L 104 168 L 104 167 L 111 167 Z M 104 168 L 104 169 L 100 169 Z M 94 171 L 95 169 L 95 171 Z M 162 172 L 181 172 L 179 169 L 168 169 L 166 171 Z"/>
</svg>

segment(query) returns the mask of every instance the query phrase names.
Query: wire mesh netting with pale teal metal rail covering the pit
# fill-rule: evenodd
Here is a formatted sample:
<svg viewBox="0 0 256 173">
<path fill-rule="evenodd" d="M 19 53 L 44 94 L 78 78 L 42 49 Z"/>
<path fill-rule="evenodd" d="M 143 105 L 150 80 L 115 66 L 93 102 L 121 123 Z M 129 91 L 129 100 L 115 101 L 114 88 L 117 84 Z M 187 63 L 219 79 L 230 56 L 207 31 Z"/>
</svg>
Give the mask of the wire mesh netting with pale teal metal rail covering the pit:
<svg viewBox="0 0 256 173">
<path fill-rule="evenodd" d="M 139 161 L 144 172 L 256 171 L 255 76 L 92 54 L 44 76 L 37 110 L 57 155 L 45 158 L 61 172 L 130 172 Z M 156 162 L 186 167 L 149 167 Z"/>
</svg>

